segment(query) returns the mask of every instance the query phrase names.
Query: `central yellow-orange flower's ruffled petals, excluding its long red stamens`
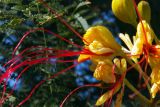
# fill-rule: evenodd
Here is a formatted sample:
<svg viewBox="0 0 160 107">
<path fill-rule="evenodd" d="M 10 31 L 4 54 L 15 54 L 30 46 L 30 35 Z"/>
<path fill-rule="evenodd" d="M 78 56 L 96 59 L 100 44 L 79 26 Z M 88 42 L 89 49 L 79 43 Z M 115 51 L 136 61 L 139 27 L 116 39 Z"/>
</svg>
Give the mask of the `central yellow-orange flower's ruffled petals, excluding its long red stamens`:
<svg viewBox="0 0 160 107">
<path fill-rule="evenodd" d="M 111 32 L 104 26 L 89 28 L 84 34 L 83 39 L 85 49 L 88 49 L 95 55 L 81 54 L 78 60 L 81 61 L 87 57 L 90 58 L 94 77 L 105 83 L 114 83 L 116 79 L 112 72 L 112 57 L 109 58 L 110 56 L 105 56 L 105 54 L 119 53 L 121 52 L 121 46 L 115 41 Z"/>
</svg>

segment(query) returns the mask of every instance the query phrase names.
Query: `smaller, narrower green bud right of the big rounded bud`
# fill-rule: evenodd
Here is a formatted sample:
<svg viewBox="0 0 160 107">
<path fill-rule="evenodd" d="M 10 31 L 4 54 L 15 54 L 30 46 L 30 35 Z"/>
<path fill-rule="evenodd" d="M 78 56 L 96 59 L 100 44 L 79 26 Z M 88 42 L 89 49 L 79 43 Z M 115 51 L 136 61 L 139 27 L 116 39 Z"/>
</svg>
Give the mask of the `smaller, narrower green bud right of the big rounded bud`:
<svg viewBox="0 0 160 107">
<path fill-rule="evenodd" d="M 149 3 L 147 1 L 140 1 L 138 3 L 138 11 L 141 14 L 142 19 L 146 20 L 148 23 L 150 23 L 151 8 L 150 8 Z"/>
</svg>

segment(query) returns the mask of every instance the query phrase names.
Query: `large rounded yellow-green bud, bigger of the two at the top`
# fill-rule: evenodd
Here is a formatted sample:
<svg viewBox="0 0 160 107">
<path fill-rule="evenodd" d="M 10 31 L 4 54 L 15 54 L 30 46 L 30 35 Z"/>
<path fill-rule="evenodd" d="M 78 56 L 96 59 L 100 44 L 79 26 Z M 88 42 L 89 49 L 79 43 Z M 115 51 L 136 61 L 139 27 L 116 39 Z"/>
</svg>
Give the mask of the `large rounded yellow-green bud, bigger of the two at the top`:
<svg viewBox="0 0 160 107">
<path fill-rule="evenodd" d="M 119 20 L 136 27 L 137 15 L 132 0 L 112 0 L 112 11 Z"/>
</svg>

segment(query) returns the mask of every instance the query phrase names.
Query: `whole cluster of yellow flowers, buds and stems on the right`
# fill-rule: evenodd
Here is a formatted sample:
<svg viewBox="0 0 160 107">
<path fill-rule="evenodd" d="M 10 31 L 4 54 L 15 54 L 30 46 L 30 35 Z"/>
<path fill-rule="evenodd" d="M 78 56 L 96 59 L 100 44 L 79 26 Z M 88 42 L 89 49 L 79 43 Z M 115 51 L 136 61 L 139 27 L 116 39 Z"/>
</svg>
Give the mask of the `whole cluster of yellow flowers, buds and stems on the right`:
<svg viewBox="0 0 160 107">
<path fill-rule="evenodd" d="M 94 78 L 101 81 L 103 85 L 112 84 L 112 87 L 109 90 L 106 89 L 107 92 L 97 100 L 96 105 L 102 105 L 121 89 L 117 95 L 119 97 L 117 97 L 116 105 L 120 106 L 124 84 L 137 93 L 138 90 L 133 88 L 126 78 L 126 73 L 131 68 L 135 68 L 139 72 L 145 81 L 145 87 L 148 86 L 151 99 L 155 98 L 156 93 L 160 90 L 160 45 L 150 26 L 149 3 L 140 1 L 137 6 L 134 0 L 112 0 L 112 10 L 119 20 L 131 24 L 137 29 L 137 32 L 133 36 L 133 40 L 128 34 L 119 34 L 120 39 L 127 47 L 118 44 L 111 32 L 104 26 L 90 27 L 84 34 L 84 49 L 93 54 L 81 53 L 78 61 L 89 58 L 92 62 L 90 69 L 94 72 Z M 140 66 L 142 62 L 146 63 L 145 69 Z M 150 71 L 147 68 L 151 69 L 149 75 L 147 72 Z M 103 85 L 101 87 L 104 88 Z M 139 96 L 148 103 L 152 103 L 141 93 Z"/>
</svg>

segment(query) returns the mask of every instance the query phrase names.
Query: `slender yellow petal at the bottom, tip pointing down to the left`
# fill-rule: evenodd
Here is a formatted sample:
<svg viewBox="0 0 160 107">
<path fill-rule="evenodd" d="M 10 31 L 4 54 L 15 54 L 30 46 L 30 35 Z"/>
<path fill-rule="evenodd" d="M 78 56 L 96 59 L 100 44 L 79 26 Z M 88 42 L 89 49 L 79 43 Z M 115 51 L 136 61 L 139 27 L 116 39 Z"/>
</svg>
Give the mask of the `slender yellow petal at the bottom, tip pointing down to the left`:
<svg viewBox="0 0 160 107">
<path fill-rule="evenodd" d="M 113 91 L 110 90 L 106 93 L 104 93 L 96 102 L 96 106 L 100 106 L 102 105 L 105 101 L 109 100 L 109 98 L 111 98 L 113 95 Z"/>
</svg>

